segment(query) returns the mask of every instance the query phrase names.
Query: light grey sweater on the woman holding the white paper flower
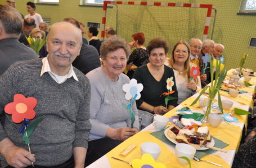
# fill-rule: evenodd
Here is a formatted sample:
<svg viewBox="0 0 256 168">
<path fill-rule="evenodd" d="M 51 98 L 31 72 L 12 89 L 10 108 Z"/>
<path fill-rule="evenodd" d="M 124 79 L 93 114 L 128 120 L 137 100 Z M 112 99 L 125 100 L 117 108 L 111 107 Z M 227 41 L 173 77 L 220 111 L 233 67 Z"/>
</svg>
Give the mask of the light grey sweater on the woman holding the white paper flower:
<svg viewBox="0 0 256 168">
<path fill-rule="evenodd" d="M 93 69 L 86 76 L 91 83 L 92 95 L 90 104 L 92 129 L 89 141 L 104 138 L 109 127 L 114 129 L 131 127 L 128 110 L 122 106 L 122 103 L 129 104 L 123 91 L 123 85 L 130 81 L 128 76 L 121 73 L 118 81 L 113 82 L 105 76 L 101 67 Z M 133 103 L 132 110 L 135 114 L 134 127 L 139 129 L 136 102 Z"/>
</svg>

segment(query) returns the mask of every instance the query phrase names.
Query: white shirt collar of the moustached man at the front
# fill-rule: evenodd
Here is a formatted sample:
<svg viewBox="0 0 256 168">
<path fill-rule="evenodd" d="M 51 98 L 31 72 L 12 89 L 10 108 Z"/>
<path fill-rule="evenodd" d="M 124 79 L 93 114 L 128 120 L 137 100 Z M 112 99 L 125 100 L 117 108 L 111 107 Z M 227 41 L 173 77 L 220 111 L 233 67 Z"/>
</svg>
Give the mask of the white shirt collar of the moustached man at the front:
<svg viewBox="0 0 256 168">
<path fill-rule="evenodd" d="M 48 62 L 48 55 L 47 55 L 46 58 L 42 59 L 42 62 L 43 62 L 43 66 L 42 66 L 42 69 L 41 69 L 40 76 L 42 76 L 45 72 L 48 72 L 50 74 L 50 76 L 52 77 L 52 79 L 55 80 L 55 82 L 57 82 L 59 84 L 64 83 L 66 80 L 68 80 L 68 78 L 71 78 L 71 77 L 73 77 L 74 80 L 78 81 L 78 78 L 75 75 L 75 72 L 73 70 L 72 65 L 71 65 L 71 67 L 69 69 L 69 72 L 67 74 L 65 74 L 64 76 L 59 76 L 59 75 L 57 75 L 57 74 L 55 74 L 51 71 L 51 67 L 50 67 L 49 62 Z"/>
</svg>

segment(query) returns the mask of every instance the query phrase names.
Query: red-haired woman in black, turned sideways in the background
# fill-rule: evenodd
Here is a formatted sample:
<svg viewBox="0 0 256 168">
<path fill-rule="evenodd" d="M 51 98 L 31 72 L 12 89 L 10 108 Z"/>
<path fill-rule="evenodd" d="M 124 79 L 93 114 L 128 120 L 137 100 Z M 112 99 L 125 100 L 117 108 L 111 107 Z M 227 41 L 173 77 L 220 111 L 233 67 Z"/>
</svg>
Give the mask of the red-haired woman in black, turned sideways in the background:
<svg viewBox="0 0 256 168">
<path fill-rule="evenodd" d="M 133 50 L 132 54 L 129 56 L 127 61 L 127 76 L 132 78 L 134 71 L 132 70 L 132 64 L 140 67 L 144 64 L 149 63 L 149 53 L 147 53 L 146 47 L 143 46 L 145 43 L 145 36 L 143 32 L 137 32 L 132 35 L 133 40 L 129 45 L 131 48 L 136 48 Z"/>
</svg>

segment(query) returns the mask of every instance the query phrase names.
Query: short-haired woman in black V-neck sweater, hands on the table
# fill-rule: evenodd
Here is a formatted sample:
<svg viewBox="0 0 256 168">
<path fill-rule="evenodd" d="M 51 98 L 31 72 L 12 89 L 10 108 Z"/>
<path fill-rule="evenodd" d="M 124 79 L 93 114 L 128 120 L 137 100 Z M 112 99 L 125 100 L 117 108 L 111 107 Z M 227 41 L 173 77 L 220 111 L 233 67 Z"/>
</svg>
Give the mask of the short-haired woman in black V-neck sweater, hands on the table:
<svg viewBox="0 0 256 168">
<path fill-rule="evenodd" d="M 138 67 L 133 75 L 133 78 L 143 85 L 141 98 L 136 100 L 136 104 L 139 109 L 162 115 L 177 106 L 178 101 L 178 99 L 168 101 L 166 108 L 164 100 L 166 96 L 160 96 L 163 92 L 168 92 L 167 78 L 173 77 L 174 92 L 169 96 L 178 97 L 173 69 L 164 65 L 169 47 L 167 41 L 157 38 L 150 41 L 147 49 L 150 63 Z"/>
</svg>

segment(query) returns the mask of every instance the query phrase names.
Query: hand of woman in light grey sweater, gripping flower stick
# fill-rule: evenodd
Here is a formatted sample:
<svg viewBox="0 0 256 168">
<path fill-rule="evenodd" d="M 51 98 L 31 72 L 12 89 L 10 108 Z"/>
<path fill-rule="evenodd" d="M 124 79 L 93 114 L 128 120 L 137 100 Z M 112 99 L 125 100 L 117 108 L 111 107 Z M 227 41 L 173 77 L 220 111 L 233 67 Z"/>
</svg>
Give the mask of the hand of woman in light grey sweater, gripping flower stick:
<svg viewBox="0 0 256 168">
<path fill-rule="evenodd" d="M 138 132 L 137 128 L 128 128 L 128 127 L 124 127 L 124 128 L 119 128 L 119 129 L 115 129 L 115 140 L 119 140 L 119 141 L 124 141 L 125 139 L 132 137 L 134 134 L 136 134 Z"/>
</svg>

